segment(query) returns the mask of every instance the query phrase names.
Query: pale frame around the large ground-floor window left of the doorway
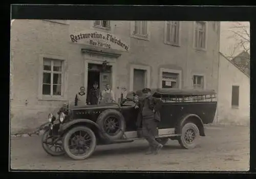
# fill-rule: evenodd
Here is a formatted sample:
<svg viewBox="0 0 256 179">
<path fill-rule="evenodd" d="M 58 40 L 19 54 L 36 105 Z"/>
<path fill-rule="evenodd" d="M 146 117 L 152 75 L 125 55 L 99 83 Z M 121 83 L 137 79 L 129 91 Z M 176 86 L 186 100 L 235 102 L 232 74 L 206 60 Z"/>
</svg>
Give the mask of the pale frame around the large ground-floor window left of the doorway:
<svg viewBox="0 0 256 179">
<path fill-rule="evenodd" d="M 61 71 L 61 95 L 60 96 L 51 96 L 42 94 L 42 79 L 44 74 L 44 58 L 56 59 L 62 61 L 62 71 Z M 67 100 L 67 60 L 62 55 L 56 54 L 40 54 L 39 55 L 39 67 L 38 67 L 38 100 L 46 101 L 68 101 Z"/>
</svg>

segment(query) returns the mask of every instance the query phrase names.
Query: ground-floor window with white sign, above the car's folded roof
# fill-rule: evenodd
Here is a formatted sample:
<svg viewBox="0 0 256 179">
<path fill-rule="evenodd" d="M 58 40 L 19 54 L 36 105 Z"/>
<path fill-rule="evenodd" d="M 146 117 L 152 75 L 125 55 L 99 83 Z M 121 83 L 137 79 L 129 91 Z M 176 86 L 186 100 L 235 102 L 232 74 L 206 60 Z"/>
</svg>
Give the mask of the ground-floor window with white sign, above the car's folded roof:
<svg viewBox="0 0 256 179">
<path fill-rule="evenodd" d="M 162 88 L 178 88 L 178 74 L 163 72 Z"/>
</svg>

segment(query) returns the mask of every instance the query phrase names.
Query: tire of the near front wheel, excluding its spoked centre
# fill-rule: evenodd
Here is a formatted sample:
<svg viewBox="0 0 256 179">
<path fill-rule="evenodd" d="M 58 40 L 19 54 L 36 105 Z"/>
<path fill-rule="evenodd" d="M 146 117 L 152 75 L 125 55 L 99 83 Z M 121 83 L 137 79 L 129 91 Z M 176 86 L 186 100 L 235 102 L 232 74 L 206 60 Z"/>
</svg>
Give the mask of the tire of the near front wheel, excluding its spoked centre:
<svg viewBox="0 0 256 179">
<path fill-rule="evenodd" d="M 89 150 L 86 151 L 86 153 L 83 153 L 82 155 L 76 155 L 74 153 L 71 152 L 71 149 L 70 149 L 70 139 L 73 137 L 73 135 L 76 134 L 76 132 L 80 132 L 80 131 L 83 131 L 84 133 L 84 136 L 89 136 L 91 142 L 89 144 Z M 86 135 L 85 135 L 86 134 Z M 76 136 L 77 137 L 77 136 Z M 79 140 L 80 142 L 85 142 L 84 139 L 80 139 Z M 78 146 L 78 145 L 81 145 L 81 144 L 74 144 L 75 145 L 75 149 L 79 148 L 78 149 L 78 152 L 80 153 L 80 149 L 82 148 L 82 146 Z M 84 146 L 84 144 L 83 144 Z M 74 160 L 84 160 L 84 159 L 87 159 L 89 158 L 89 156 L 92 155 L 92 153 L 94 152 L 95 148 L 96 148 L 96 137 L 95 137 L 95 134 L 94 132 L 88 128 L 88 127 L 85 127 L 85 126 L 77 126 L 77 127 L 74 127 L 74 128 L 71 128 L 69 131 L 67 131 L 66 135 L 64 136 L 63 138 L 63 148 L 65 150 L 65 152 L 67 153 L 67 155 L 74 159 Z M 74 149 L 73 148 L 73 149 Z"/>
</svg>

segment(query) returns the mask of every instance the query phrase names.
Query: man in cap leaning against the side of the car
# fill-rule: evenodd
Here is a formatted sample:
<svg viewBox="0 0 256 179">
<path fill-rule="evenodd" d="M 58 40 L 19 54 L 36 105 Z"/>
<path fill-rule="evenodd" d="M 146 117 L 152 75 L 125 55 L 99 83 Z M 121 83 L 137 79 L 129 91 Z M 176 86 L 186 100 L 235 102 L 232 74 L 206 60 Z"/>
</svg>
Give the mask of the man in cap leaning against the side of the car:
<svg viewBox="0 0 256 179">
<path fill-rule="evenodd" d="M 161 120 L 159 113 L 161 101 L 152 96 L 150 88 L 142 89 L 142 93 L 145 98 L 141 102 L 139 115 L 141 115 L 142 119 L 143 137 L 150 144 L 150 148 L 148 149 L 146 154 L 157 154 L 159 150 L 163 147 L 163 145 L 159 144 L 155 139 L 155 137 L 158 136 L 157 126 Z M 138 123 L 140 122 L 138 121 Z"/>
</svg>

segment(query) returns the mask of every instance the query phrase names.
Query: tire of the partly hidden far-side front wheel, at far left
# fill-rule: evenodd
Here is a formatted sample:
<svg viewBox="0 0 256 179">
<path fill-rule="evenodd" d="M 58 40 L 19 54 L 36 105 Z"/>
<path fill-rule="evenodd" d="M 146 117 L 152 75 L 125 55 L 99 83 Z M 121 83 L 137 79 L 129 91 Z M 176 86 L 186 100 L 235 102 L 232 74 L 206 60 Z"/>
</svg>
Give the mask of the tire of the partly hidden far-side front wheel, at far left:
<svg viewBox="0 0 256 179">
<path fill-rule="evenodd" d="M 44 142 L 46 141 L 46 139 L 49 137 L 49 132 L 50 132 L 50 130 L 46 130 L 46 131 L 44 132 L 44 134 L 42 135 L 42 140 L 41 140 L 42 148 L 43 148 L 48 154 L 50 154 L 50 155 L 52 155 L 52 156 L 59 156 L 59 155 L 65 154 L 65 151 L 64 151 L 63 147 L 56 147 L 56 146 L 53 145 L 53 146 L 50 148 L 49 144 L 44 143 Z M 60 141 L 61 141 L 61 140 L 60 140 Z M 62 145 L 62 141 L 61 141 L 61 144 L 60 144 L 60 145 Z M 59 150 L 58 150 L 58 151 L 52 150 L 53 147 L 54 147 L 54 149 L 59 149 Z"/>
</svg>

